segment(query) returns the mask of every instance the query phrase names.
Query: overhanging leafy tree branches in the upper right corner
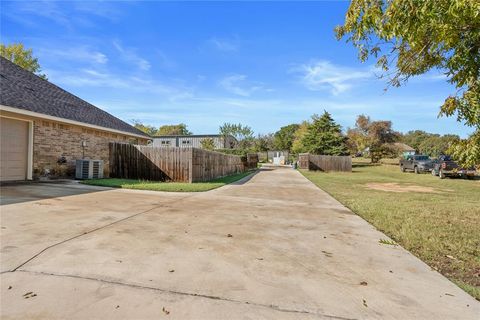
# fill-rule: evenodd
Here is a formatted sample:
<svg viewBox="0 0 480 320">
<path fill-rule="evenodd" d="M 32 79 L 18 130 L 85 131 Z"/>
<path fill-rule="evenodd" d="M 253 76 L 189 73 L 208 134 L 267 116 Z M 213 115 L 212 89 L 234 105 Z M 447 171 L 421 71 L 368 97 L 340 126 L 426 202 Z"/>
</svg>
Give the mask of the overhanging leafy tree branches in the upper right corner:
<svg viewBox="0 0 480 320">
<path fill-rule="evenodd" d="M 359 51 L 377 60 L 392 86 L 431 69 L 443 70 L 457 92 L 440 115 L 475 128 L 455 148 L 457 158 L 480 163 L 480 2 L 474 0 L 353 0 L 345 23 L 335 30 Z M 391 71 L 392 65 L 394 70 Z M 462 155 L 462 153 L 465 153 Z M 464 163 L 465 164 L 465 163 Z"/>
</svg>

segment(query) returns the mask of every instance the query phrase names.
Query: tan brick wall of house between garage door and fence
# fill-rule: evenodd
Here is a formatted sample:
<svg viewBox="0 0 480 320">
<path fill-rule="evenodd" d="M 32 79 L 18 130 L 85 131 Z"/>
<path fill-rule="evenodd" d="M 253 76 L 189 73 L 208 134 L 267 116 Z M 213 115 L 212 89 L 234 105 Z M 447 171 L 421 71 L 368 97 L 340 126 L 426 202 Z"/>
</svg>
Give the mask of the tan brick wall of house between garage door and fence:
<svg viewBox="0 0 480 320">
<path fill-rule="evenodd" d="M 103 160 L 104 175 L 108 177 L 110 142 L 147 143 L 147 139 L 50 120 L 35 119 L 33 128 L 34 178 L 44 175 L 46 170 L 50 176 L 72 177 L 75 174 L 75 160 L 82 158 Z M 82 141 L 86 142 L 86 147 L 82 147 Z M 59 163 L 62 157 L 66 163 Z"/>
</svg>

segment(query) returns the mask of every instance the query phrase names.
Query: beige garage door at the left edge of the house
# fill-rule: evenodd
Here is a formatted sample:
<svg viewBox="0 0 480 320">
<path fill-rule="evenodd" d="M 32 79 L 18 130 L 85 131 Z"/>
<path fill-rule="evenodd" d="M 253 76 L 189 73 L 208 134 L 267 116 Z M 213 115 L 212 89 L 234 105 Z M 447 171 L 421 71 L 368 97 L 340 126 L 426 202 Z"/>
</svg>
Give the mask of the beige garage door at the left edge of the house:
<svg viewBox="0 0 480 320">
<path fill-rule="evenodd" d="M 0 118 L 0 181 L 27 179 L 28 122 Z"/>
</svg>

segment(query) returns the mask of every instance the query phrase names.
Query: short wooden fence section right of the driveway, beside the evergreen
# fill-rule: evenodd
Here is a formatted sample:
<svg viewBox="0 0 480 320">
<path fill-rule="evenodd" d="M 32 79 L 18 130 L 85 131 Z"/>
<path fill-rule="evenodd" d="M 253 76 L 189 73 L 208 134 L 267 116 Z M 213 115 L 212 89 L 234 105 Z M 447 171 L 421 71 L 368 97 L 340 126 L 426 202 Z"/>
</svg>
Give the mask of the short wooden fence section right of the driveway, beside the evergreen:
<svg viewBox="0 0 480 320">
<path fill-rule="evenodd" d="M 301 153 L 298 155 L 298 167 L 308 170 L 351 172 L 352 158 Z"/>
</svg>

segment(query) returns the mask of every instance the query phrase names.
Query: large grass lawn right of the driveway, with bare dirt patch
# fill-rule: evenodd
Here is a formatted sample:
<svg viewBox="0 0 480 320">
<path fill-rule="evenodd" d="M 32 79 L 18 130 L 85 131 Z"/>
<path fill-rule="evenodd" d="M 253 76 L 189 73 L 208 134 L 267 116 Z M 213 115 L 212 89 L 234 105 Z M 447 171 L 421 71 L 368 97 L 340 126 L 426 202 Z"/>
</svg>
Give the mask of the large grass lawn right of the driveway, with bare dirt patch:
<svg viewBox="0 0 480 320">
<path fill-rule="evenodd" d="M 480 300 L 479 180 L 440 180 L 430 174 L 401 173 L 398 166 L 365 163 L 354 164 L 352 173 L 301 172 Z M 372 183 L 380 189 L 431 189 L 392 192 L 367 187 Z"/>
</svg>

